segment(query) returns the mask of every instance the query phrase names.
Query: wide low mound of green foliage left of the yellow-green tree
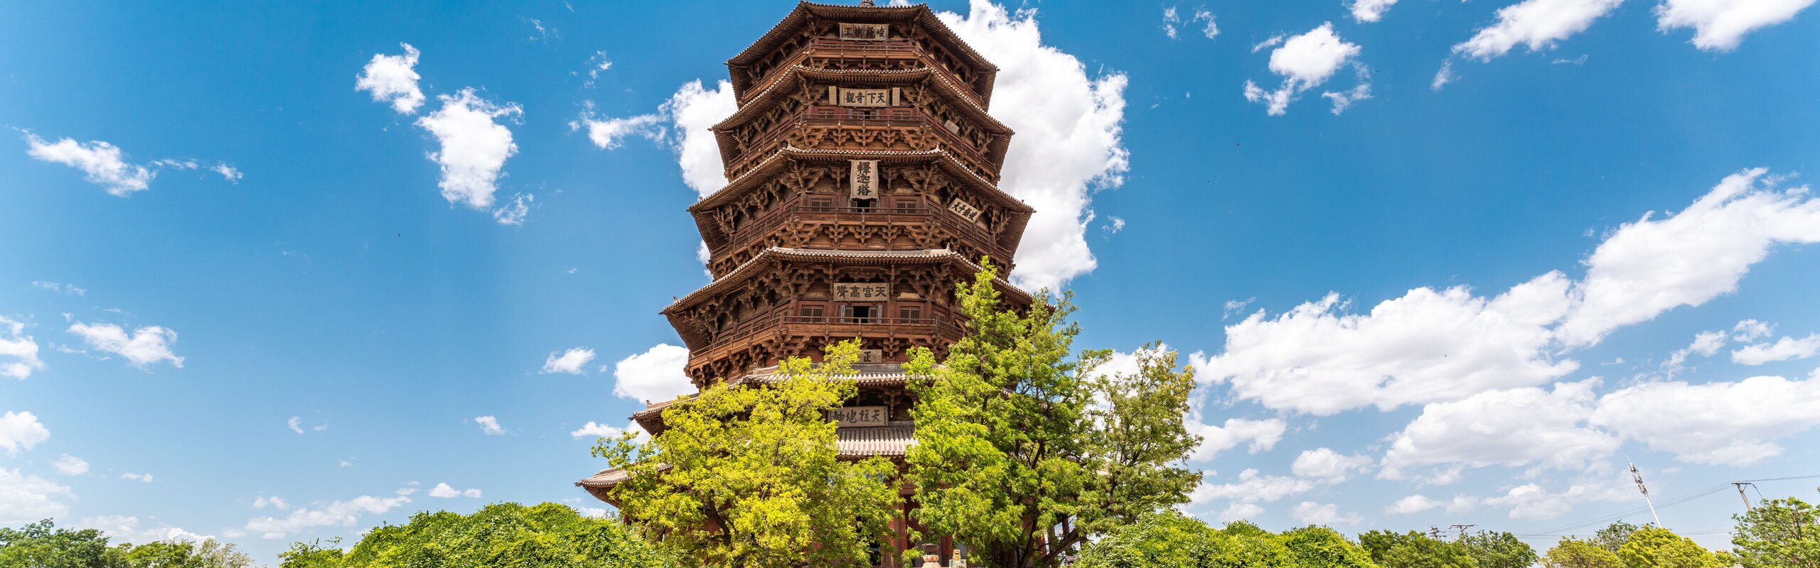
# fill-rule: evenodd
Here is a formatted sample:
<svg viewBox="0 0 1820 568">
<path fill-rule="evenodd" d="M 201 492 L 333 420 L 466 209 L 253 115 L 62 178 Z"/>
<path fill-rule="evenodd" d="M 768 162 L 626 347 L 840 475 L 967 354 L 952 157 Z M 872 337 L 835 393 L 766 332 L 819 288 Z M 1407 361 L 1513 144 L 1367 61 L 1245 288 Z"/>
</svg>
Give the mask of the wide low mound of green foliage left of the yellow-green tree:
<svg viewBox="0 0 1820 568">
<path fill-rule="evenodd" d="M 590 519 L 544 502 L 497 502 L 471 515 L 422 512 L 375 528 L 346 553 L 295 543 L 280 568 L 672 568 L 617 519 Z"/>
</svg>

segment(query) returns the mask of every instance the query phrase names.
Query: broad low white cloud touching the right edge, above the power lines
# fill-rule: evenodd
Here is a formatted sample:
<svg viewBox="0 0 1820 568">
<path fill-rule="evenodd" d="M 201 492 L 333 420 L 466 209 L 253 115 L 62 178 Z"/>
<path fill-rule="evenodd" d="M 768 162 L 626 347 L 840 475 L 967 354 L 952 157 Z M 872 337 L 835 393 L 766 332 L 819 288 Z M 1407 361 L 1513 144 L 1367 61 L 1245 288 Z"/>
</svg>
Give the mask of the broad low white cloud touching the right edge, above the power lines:
<svg viewBox="0 0 1820 568">
<path fill-rule="evenodd" d="M 1751 464 L 1782 453 L 1774 439 L 1820 424 L 1820 379 L 1645 382 L 1600 397 L 1591 422 L 1682 461 Z"/>
</svg>

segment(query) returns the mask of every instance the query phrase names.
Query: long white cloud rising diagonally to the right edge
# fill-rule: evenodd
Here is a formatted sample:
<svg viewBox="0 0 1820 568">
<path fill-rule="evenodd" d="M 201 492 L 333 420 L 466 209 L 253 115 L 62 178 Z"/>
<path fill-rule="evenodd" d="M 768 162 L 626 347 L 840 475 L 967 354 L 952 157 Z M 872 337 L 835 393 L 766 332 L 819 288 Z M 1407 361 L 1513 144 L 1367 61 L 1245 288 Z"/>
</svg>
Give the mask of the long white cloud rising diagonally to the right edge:
<svg viewBox="0 0 1820 568">
<path fill-rule="evenodd" d="M 1496 297 L 1416 288 L 1369 313 L 1330 293 L 1276 317 L 1252 313 L 1225 328 L 1223 353 L 1190 360 L 1239 399 L 1316 415 L 1540 386 L 1580 368 L 1563 353 L 1731 293 L 1774 244 L 1804 242 L 1820 242 L 1820 200 L 1747 169 L 1680 213 L 1611 231 L 1582 280 L 1551 271 Z"/>
</svg>

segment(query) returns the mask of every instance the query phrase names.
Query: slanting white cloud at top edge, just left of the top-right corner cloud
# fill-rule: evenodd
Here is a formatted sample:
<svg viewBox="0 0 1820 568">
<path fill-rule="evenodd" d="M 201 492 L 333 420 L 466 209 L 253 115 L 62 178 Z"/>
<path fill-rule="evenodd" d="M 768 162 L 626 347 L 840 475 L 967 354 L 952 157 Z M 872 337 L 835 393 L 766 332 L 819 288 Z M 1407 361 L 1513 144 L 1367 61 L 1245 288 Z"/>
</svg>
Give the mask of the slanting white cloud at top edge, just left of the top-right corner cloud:
<svg viewBox="0 0 1820 568">
<path fill-rule="evenodd" d="M 1592 25 L 1623 0 L 1523 0 L 1498 9 L 1498 22 L 1480 29 L 1454 53 L 1491 60 L 1518 44 L 1542 51 Z"/>
</svg>

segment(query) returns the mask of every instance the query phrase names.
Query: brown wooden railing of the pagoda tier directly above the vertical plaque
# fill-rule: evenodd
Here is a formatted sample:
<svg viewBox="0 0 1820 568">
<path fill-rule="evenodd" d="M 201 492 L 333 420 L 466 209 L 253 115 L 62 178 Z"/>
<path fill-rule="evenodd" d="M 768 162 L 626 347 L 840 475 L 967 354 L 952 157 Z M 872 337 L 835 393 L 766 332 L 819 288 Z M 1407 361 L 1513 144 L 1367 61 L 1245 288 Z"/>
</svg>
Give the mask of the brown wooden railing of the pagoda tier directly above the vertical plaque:
<svg viewBox="0 0 1820 568">
<path fill-rule="evenodd" d="M 963 162 L 968 162 L 976 173 L 988 180 L 997 178 L 997 169 L 986 160 L 985 147 L 974 147 L 974 142 L 948 129 L 948 126 L 935 122 L 935 117 L 923 113 L 917 107 L 843 107 L 843 106 L 808 106 L 779 120 L 770 131 L 753 138 L 739 151 L 739 160 L 726 171 L 728 178 L 737 178 L 746 169 L 755 166 L 761 158 L 772 155 L 775 146 L 783 137 L 790 135 L 799 126 L 859 126 L 859 127 L 921 127 L 934 131 L 943 140 L 943 149 L 954 153 Z"/>
</svg>

